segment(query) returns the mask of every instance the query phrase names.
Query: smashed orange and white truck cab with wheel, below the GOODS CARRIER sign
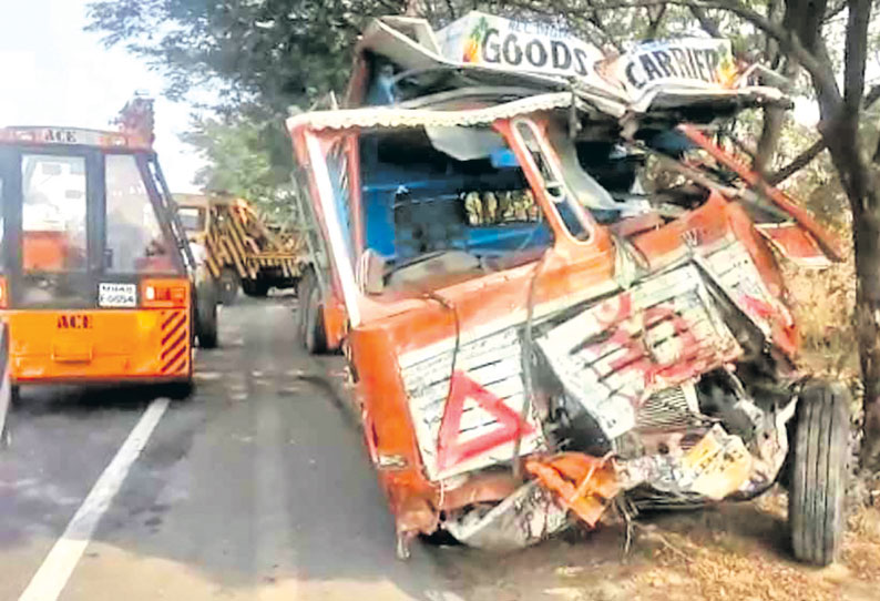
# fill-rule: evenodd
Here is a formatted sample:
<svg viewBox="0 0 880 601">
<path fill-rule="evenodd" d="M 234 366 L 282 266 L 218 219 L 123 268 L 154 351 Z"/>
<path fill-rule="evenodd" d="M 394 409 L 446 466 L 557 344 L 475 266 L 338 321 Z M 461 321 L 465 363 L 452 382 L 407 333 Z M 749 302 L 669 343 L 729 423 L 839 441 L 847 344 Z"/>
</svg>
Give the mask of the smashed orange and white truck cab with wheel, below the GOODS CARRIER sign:
<svg viewBox="0 0 880 601">
<path fill-rule="evenodd" d="M 771 246 L 823 265 L 837 241 L 713 142 L 731 99 L 778 94 L 676 90 L 633 111 L 463 86 L 288 120 L 401 557 L 781 481 L 795 556 L 833 560 L 849 396 L 797 369 Z M 649 157 L 663 191 L 633 177 Z"/>
</svg>

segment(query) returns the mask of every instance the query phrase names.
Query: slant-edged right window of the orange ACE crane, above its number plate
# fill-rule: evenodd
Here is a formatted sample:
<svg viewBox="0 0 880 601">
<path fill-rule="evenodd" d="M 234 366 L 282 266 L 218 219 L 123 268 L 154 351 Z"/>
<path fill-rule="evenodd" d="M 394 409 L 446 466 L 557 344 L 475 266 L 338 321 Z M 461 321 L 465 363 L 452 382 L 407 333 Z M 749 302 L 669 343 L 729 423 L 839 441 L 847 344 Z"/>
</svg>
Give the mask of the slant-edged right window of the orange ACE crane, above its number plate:
<svg viewBox="0 0 880 601">
<path fill-rule="evenodd" d="M 111 273 L 173 271 L 168 245 L 135 157 L 110 154 L 106 171 L 106 247 L 104 268 Z"/>
</svg>

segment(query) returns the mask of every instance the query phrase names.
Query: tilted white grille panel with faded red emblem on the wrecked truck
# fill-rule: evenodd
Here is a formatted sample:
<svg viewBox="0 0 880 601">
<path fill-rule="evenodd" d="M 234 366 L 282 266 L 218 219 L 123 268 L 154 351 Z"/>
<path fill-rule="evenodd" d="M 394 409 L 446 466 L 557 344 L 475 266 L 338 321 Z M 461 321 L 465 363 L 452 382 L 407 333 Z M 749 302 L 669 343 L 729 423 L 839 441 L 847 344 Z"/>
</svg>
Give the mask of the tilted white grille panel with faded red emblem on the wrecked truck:
<svg viewBox="0 0 880 601">
<path fill-rule="evenodd" d="M 653 276 L 538 338 L 567 395 L 608 439 L 631 430 L 653 390 L 739 353 L 693 265 Z"/>
</svg>

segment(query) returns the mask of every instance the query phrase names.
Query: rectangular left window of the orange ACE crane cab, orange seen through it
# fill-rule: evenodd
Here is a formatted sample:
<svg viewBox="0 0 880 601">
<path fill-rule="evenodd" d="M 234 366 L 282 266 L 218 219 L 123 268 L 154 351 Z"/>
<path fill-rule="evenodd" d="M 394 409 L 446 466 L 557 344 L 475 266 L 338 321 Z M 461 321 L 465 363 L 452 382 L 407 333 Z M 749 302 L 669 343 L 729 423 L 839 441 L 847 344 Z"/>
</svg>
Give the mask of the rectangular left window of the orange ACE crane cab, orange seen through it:
<svg viewBox="0 0 880 601">
<path fill-rule="evenodd" d="M 84 272 L 85 159 L 25 154 L 21 189 L 23 271 Z"/>
</svg>

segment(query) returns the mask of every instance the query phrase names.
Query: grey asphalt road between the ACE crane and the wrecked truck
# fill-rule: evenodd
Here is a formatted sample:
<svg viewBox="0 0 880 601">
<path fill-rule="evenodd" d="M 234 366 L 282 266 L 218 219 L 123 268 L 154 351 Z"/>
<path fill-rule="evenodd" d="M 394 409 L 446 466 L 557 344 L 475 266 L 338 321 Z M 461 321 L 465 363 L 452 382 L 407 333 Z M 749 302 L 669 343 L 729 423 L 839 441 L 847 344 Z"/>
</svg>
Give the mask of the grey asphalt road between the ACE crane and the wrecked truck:
<svg viewBox="0 0 880 601">
<path fill-rule="evenodd" d="M 196 391 L 161 415 L 91 536 L 63 537 L 161 390 L 23 391 L 0 450 L 0 601 L 52 587 L 64 601 L 460 599 L 446 550 L 396 559 L 360 434 L 293 304 L 222 312 Z M 69 575 L 40 570 L 59 539 L 84 546 Z"/>
</svg>

